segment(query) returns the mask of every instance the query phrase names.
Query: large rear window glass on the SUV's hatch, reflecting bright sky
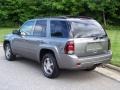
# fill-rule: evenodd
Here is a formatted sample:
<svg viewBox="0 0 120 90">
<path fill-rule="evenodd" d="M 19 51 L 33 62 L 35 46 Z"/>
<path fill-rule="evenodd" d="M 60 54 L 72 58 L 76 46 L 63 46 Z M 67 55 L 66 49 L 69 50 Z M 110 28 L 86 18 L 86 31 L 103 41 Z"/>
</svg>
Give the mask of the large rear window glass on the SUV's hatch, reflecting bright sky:
<svg viewBox="0 0 120 90">
<path fill-rule="evenodd" d="M 102 26 L 95 20 L 73 20 L 71 32 L 74 38 L 89 37 L 94 35 L 105 35 Z"/>
</svg>

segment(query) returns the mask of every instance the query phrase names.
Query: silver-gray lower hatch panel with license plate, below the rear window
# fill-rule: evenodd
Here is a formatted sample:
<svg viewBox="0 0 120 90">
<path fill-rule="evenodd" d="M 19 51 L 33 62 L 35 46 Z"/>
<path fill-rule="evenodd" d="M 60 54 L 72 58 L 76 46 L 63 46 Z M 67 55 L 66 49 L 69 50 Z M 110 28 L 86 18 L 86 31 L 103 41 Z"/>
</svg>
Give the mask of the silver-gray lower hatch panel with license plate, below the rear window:
<svg viewBox="0 0 120 90">
<path fill-rule="evenodd" d="M 105 54 L 108 51 L 107 38 L 94 40 L 93 38 L 74 39 L 75 54 L 78 57 Z"/>
</svg>

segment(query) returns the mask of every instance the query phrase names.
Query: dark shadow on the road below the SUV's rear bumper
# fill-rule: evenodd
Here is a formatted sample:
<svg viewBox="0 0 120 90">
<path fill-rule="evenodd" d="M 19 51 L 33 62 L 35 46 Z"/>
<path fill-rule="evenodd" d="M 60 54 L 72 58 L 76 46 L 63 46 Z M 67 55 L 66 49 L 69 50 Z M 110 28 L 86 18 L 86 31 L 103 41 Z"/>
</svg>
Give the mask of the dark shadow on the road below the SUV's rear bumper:
<svg viewBox="0 0 120 90">
<path fill-rule="evenodd" d="M 99 74 L 95 71 L 84 70 L 61 70 L 59 79 L 85 81 L 98 78 Z"/>
</svg>

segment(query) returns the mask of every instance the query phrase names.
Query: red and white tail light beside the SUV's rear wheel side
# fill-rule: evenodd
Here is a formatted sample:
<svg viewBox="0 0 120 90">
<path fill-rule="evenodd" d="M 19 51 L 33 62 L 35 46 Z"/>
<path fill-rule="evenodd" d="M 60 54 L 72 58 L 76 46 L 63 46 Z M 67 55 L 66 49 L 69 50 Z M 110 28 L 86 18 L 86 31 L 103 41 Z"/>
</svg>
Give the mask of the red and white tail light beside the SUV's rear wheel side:
<svg viewBox="0 0 120 90">
<path fill-rule="evenodd" d="M 74 42 L 68 41 L 65 46 L 65 54 L 74 54 Z"/>
</svg>

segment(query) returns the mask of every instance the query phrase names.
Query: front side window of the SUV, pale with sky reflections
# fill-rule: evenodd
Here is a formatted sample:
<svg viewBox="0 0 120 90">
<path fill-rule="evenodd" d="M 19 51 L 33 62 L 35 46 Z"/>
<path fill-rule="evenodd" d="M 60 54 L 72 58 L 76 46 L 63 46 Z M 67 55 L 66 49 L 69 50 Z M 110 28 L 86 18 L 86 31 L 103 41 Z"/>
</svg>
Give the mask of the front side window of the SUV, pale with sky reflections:
<svg viewBox="0 0 120 90">
<path fill-rule="evenodd" d="M 24 33 L 25 35 L 32 35 L 33 32 L 33 25 L 34 21 L 28 21 L 20 28 L 20 32 Z"/>
</svg>

